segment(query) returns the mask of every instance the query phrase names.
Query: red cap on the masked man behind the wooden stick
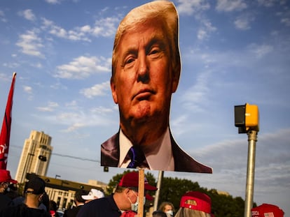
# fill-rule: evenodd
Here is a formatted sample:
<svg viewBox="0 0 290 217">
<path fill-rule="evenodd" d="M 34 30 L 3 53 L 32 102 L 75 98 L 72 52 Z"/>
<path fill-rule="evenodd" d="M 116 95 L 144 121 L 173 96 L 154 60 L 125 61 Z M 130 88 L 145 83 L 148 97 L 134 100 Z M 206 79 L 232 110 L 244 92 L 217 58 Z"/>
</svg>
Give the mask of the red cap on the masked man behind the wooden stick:
<svg viewBox="0 0 290 217">
<path fill-rule="evenodd" d="M 139 172 L 128 172 L 123 175 L 118 186 L 122 187 L 137 187 L 139 186 Z M 157 190 L 155 186 L 149 185 L 146 177 L 144 177 L 144 189 L 145 190 Z"/>
</svg>

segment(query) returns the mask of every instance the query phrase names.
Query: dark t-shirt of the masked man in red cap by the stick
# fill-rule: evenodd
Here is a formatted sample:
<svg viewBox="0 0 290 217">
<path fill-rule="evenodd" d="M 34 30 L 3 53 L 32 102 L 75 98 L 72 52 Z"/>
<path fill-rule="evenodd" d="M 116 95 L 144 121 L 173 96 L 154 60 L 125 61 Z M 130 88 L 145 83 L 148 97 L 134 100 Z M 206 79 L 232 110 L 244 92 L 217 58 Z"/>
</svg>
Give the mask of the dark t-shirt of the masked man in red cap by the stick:
<svg viewBox="0 0 290 217">
<path fill-rule="evenodd" d="M 113 195 L 109 195 L 83 205 L 77 217 L 119 217 L 120 215 L 121 212 L 113 200 Z"/>
</svg>

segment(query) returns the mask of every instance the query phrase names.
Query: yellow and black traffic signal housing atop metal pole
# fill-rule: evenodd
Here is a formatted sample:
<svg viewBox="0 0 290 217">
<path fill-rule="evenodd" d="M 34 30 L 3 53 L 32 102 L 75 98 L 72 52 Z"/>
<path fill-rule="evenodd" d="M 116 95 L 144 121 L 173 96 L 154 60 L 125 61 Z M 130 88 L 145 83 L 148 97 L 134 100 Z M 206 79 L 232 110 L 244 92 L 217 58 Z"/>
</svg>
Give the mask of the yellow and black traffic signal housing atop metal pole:
<svg viewBox="0 0 290 217">
<path fill-rule="evenodd" d="M 257 105 L 235 105 L 235 126 L 239 133 L 247 133 L 249 130 L 259 130 L 259 114 Z"/>
</svg>

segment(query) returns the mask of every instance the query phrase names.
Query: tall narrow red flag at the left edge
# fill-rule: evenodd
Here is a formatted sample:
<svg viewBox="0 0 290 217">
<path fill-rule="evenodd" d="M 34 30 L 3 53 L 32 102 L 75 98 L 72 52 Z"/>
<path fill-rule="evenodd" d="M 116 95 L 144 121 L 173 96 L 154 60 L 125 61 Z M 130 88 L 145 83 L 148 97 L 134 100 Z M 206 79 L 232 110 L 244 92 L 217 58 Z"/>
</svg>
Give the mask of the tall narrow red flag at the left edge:
<svg viewBox="0 0 290 217">
<path fill-rule="evenodd" d="M 11 88 L 8 95 L 5 115 L 3 119 L 3 124 L 1 128 L 0 135 L 0 169 L 6 170 L 7 166 L 7 158 L 8 158 L 8 150 L 9 150 L 9 140 L 10 140 L 10 129 L 11 129 L 11 111 L 13 104 L 13 91 L 15 84 L 16 73 L 13 73 Z"/>
</svg>

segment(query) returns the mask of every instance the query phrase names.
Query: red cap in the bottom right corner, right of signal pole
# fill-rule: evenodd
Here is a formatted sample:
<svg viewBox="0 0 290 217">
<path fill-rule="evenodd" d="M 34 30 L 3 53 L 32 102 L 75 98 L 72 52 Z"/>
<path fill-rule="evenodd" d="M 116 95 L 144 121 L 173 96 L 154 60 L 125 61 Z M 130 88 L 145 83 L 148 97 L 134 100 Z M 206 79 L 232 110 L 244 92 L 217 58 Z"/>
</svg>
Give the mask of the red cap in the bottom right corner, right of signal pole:
<svg viewBox="0 0 290 217">
<path fill-rule="evenodd" d="M 284 211 L 272 204 L 261 204 L 251 209 L 252 217 L 283 217 Z"/>
</svg>

